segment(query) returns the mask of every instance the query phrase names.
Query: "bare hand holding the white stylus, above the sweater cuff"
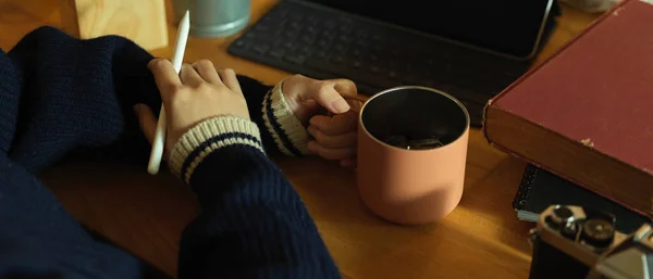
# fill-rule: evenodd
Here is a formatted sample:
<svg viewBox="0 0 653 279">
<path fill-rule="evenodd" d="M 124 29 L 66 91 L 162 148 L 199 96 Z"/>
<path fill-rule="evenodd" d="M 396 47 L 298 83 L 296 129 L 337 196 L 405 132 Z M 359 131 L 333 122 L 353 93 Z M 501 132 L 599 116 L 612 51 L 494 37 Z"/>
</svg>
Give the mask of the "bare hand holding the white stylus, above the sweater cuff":
<svg viewBox="0 0 653 279">
<path fill-rule="evenodd" d="M 165 106 L 165 154 L 170 154 L 187 130 L 207 118 L 231 115 L 249 119 L 247 103 L 233 69 L 217 71 L 208 60 L 193 65 L 184 64 L 180 75 L 172 63 L 163 59 L 152 60 L 148 67 Z M 157 130 L 157 117 L 147 105 L 137 104 L 134 110 L 143 132 L 151 143 Z"/>
</svg>

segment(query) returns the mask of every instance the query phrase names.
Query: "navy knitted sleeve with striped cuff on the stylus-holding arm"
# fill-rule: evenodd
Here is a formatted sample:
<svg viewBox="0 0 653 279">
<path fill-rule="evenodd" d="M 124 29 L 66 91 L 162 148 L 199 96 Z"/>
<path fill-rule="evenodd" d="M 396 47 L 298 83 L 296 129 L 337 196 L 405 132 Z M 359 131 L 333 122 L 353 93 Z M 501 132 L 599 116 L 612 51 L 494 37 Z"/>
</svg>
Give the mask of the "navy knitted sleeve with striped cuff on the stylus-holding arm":
<svg viewBox="0 0 653 279">
<path fill-rule="evenodd" d="M 201 214 L 183 232 L 178 277 L 340 278 L 293 186 L 244 118 L 201 122 L 175 144 L 172 173 L 196 192 Z"/>
</svg>

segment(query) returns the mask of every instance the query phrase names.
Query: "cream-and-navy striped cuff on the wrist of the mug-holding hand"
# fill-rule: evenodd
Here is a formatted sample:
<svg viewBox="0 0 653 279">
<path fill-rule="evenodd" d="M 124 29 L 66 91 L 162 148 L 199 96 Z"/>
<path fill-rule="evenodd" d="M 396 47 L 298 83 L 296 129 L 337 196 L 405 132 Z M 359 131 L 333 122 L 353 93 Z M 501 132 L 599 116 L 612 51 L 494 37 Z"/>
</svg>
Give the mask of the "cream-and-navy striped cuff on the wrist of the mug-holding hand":
<svg viewBox="0 0 653 279">
<path fill-rule="evenodd" d="M 288 156 L 310 154 L 309 135 L 295 116 L 282 92 L 283 81 L 272 88 L 263 98 L 262 116 L 266 129 L 279 150 Z"/>
</svg>

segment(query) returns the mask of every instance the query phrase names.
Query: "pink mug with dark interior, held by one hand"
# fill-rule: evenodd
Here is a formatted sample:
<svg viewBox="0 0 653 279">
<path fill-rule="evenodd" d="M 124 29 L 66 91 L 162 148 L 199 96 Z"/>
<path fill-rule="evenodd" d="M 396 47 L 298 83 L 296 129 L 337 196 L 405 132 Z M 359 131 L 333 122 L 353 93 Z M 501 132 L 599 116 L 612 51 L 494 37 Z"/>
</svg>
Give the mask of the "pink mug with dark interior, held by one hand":
<svg viewBox="0 0 653 279">
<path fill-rule="evenodd" d="M 358 191 L 377 215 L 402 225 L 436 221 L 463 196 L 469 137 L 465 105 L 406 86 L 365 101 L 358 123 Z"/>
</svg>

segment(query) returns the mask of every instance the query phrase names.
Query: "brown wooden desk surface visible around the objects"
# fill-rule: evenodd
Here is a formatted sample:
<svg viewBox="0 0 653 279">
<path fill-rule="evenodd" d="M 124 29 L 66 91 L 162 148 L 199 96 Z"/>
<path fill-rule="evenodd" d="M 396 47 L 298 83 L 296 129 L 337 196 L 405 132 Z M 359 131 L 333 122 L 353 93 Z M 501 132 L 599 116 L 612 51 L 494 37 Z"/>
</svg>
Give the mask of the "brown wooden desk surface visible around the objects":
<svg viewBox="0 0 653 279">
<path fill-rule="evenodd" d="M 8 51 L 40 25 L 61 25 L 58 1 L 0 1 L 0 48 Z M 252 21 L 275 0 L 252 0 Z M 538 61 L 551 55 L 596 15 L 564 7 L 564 15 Z M 172 18 L 168 3 L 168 18 Z M 176 28 L 170 23 L 170 40 Z M 187 61 L 210 59 L 220 67 L 269 84 L 288 75 L 231 56 L 234 39 L 189 38 Z M 172 47 L 153 51 L 170 56 Z M 370 214 L 356 193 L 355 174 L 315 157 L 279 158 L 306 202 L 345 278 L 527 278 L 531 251 L 512 200 L 523 163 L 491 148 L 478 129 L 469 142 L 465 194 L 440 224 L 401 227 Z M 175 275 L 180 233 L 197 214 L 192 192 L 169 174 L 141 165 L 72 162 L 42 174 L 46 183 L 82 223 Z M 331 179 L 321 179 L 330 177 Z"/>
</svg>

